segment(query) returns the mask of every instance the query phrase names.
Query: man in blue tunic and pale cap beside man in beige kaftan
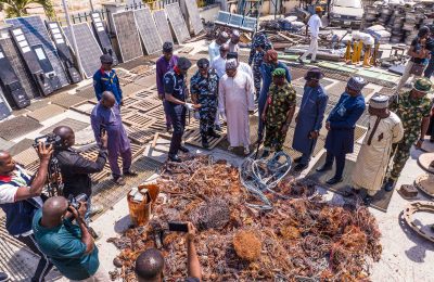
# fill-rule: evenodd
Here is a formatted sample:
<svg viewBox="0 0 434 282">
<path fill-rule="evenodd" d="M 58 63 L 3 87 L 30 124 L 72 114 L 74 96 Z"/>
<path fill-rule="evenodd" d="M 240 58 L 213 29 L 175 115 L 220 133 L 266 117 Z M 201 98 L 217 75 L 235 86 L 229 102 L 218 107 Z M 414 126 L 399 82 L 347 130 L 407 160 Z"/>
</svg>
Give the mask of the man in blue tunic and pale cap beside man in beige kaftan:
<svg viewBox="0 0 434 282">
<path fill-rule="evenodd" d="M 352 77 L 348 80 L 345 92 L 330 113 L 326 128 L 329 130 L 326 139 L 326 164 L 317 169 L 318 172 L 330 170 L 333 161 L 336 159 L 334 177 L 326 183 L 334 185 L 342 182 L 345 168 L 345 155 L 354 150 L 354 129 L 357 120 L 365 111 L 365 98 L 361 89 L 366 86 L 361 77 Z"/>
</svg>

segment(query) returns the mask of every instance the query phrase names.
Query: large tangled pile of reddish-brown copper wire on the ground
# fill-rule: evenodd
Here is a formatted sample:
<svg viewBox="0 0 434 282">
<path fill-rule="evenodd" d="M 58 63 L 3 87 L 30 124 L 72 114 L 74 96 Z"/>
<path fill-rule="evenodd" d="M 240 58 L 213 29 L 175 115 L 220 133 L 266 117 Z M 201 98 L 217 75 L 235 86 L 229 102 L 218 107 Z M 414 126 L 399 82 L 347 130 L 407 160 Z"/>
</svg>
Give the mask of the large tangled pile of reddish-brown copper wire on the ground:
<svg viewBox="0 0 434 282">
<path fill-rule="evenodd" d="M 158 185 L 164 197 L 157 200 L 148 227 L 128 230 L 117 239 L 122 251 L 115 260 L 124 281 L 136 281 L 133 259 L 149 247 L 159 248 L 165 256 L 166 281 L 186 278 L 184 234 L 167 231 L 167 221 L 194 221 L 197 210 L 216 198 L 227 203 L 230 214 L 225 226 L 218 217 L 217 228 L 196 234 L 204 281 L 366 281 L 370 264 L 381 256 L 379 228 L 366 207 L 327 203 L 305 182 L 284 179 L 278 189 L 289 198 L 267 195 L 273 202 L 269 211 L 247 207 L 252 198 L 238 168 L 209 156 L 167 164 Z M 238 257 L 233 239 L 240 231 L 261 242 L 257 259 Z"/>
</svg>

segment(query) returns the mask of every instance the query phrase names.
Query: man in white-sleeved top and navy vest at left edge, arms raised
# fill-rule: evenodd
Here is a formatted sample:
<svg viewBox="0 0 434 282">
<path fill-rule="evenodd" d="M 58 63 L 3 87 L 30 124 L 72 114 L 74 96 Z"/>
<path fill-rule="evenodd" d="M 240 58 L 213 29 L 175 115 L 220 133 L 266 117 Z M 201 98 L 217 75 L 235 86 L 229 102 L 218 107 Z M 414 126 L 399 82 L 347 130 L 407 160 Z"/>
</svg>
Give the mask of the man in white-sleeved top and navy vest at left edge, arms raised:
<svg viewBox="0 0 434 282">
<path fill-rule="evenodd" d="M 31 219 L 42 207 L 40 195 L 46 184 L 48 165 L 53 150 L 51 145 L 47 148 L 44 143 L 39 143 L 37 150 L 40 165 L 33 180 L 23 168 L 15 164 L 8 152 L 0 151 L 0 207 L 7 215 L 9 234 L 15 236 L 40 257 L 31 281 L 44 281 L 44 277 L 53 265 L 39 251 L 35 242 Z"/>
</svg>

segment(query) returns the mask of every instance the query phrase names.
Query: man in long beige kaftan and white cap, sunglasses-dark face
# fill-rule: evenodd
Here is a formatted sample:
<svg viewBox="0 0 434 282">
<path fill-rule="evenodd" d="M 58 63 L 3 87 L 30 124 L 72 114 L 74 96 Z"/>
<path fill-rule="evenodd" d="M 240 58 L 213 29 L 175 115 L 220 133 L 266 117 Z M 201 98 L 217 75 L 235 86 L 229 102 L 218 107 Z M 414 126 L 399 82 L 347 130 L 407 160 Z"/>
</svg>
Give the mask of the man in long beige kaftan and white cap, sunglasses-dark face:
<svg viewBox="0 0 434 282">
<path fill-rule="evenodd" d="M 368 132 L 353 170 L 353 192 L 358 193 L 360 189 L 366 189 L 367 196 L 363 198 L 366 205 L 371 203 L 372 197 L 383 185 L 392 144 L 399 142 L 404 136 L 400 118 L 387 107 L 388 97 L 381 93 L 375 93 L 369 101 Z"/>
</svg>

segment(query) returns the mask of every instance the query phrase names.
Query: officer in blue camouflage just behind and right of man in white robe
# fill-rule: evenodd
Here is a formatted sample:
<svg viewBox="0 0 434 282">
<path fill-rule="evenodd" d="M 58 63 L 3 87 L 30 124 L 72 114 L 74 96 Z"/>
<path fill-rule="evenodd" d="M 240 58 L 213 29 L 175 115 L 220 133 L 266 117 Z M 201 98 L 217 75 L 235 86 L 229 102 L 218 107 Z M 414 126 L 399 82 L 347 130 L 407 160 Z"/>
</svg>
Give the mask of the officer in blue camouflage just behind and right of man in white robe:
<svg viewBox="0 0 434 282">
<path fill-rule="evenodd" d="M 260 66 L 263 65 L 265 53 L 270 49 L 272 49 L 272 46 L 266 34 L 264 31 L 256 33 L 252 40 L 251 54 L 248 56 L 248 64 L 253 68 L 256 100 L 259 99 L 260 92 Z"/>
</svg>

